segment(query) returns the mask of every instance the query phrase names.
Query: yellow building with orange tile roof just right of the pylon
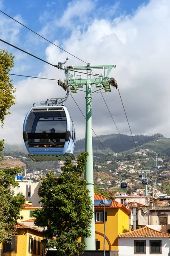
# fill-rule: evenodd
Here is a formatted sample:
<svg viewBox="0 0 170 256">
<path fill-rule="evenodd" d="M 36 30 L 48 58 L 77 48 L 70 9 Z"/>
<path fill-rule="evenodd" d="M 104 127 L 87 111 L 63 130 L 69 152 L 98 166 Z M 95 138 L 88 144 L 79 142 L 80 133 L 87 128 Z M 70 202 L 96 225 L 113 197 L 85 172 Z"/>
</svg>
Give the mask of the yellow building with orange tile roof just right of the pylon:
<svg viewBox="0 0 170 256">
<path fill-rule="evenodd" d="M 101 205 L 103 199 L 103 195 L 94 193 L 95 233 L 99 250 L 104 249 L 104 206 Z M 105 250 L 118 250 L 118 235 L 129 229 L 131 212 L 123 204 L 106 199 L 110 204 L 105 205 Z"/>
</svg>

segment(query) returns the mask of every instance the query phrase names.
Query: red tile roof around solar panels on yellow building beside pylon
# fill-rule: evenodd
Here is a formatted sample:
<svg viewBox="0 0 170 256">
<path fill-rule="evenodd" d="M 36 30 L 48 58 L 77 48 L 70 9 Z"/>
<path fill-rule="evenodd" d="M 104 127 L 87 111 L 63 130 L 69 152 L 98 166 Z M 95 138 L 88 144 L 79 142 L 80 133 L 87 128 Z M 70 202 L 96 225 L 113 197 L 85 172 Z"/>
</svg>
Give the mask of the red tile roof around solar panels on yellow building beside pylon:
<svg viewBox="0 0 170 256">
<path fill-rule="evenodd" d="M 103 195 L 99 195 L 99 194 L 97 194 L 97 193 L 94 193 L 94 200 L 103 200 L 103 199 L 104 199 L 104 196 L 103 196 Z M 106 197 L 106 199 L 109 200 L 110 198 L 107 198 L 107 197 Z M 106 205 L 105 207 L 106 207 L 107 209 L 108 209 L 108 208 L 122 208 L 122 210 L 124 210 L 124 211 L 127 212 L 128 214 L 131 214 L 130 210 L 128 210 L 128 209 L 125 207 L 125 205 L 119 204 L 118 202 L 116 202 L 116 201 L 114 201 L 114 200 L 112 200 L 111 205 L 109 205 L 109 206 Z M 103 209 L 104 206 L 98 205 L 98 206 L 94 206 L 94 208 L 95 208 L 95 209 Z"/>
</svg>

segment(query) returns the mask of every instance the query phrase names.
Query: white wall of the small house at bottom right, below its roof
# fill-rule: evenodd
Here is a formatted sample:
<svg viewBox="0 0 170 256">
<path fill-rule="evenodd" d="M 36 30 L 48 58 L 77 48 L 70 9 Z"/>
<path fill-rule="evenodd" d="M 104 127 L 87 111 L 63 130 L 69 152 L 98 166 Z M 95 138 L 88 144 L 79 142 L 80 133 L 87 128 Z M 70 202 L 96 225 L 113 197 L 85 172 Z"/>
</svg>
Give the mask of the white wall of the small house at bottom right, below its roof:
<svg viewBox="0 0 170 256">
<path fill-rule="evenodd" d="M 169 256 L 170 255 L 170 240 L 168 237 L 133 237 L 133 238 L 119 238 L 119 256 L 139 256 L 134 254 L 134 240 L 146 240 L 146 254 L 141 255 L 152 255 L 152 256 Z M 150 240 L 161 240 L 162 241 L 162 253 L 161 254 L 150 254 Z"/>
</svg>

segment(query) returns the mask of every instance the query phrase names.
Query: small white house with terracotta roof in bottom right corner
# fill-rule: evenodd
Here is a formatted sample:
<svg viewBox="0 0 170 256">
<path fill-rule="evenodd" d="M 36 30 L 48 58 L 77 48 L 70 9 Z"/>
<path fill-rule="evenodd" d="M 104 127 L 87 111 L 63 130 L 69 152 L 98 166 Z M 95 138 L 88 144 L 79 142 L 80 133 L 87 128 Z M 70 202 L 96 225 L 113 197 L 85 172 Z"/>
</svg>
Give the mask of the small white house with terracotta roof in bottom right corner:
<svg viewBox="0 0 170 256">
<path fill-rule="evenodd" d="M 119 256 L 152 255 L 169 256 L 170 234 L 150 227 L 119 234 Z"/>
</svg>

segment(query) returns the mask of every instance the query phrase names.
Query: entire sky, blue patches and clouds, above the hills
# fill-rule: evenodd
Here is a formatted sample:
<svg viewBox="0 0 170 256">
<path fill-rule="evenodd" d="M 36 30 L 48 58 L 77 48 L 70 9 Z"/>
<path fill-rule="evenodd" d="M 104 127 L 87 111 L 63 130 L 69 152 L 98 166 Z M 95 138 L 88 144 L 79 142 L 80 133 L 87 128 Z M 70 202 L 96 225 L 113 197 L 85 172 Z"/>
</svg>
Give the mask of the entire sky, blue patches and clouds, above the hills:
<svg viewBox="0 0 170 256">
<path fill-rule="evenodd" d="M 0 0 L 0 9 L 91 65 L 115 64 L 111 76 L 119 84 L 133 134 L 170 137 L 169 0 Z M 68 57 L 68 65 L 84 65 L 2 13 L 0 38 L 52 64 Z M 11 73 L 65 78 L 62 70 L 2 42 L 1 48 L 15 55 Z M 11 78 L 17 88 L 17 104 L 6 116 L 0 138 L 8 144 L 21 144 L 23 121 L 32 104 L 64 97 L 65 91 L 55 81 Z M 120 133 L 130 134 L 118 90 L 111 90 L 103 93 L 108 108 Z M 85 113 L 85 94 L 72 96 Z M 77 139 L 85 137 L 85 119 L 71 96 L 65 105 L 74 120 Z M 100 93 L 93 94 L 92 126 L 97 135 L 118 133 Z"/>
</svg>

